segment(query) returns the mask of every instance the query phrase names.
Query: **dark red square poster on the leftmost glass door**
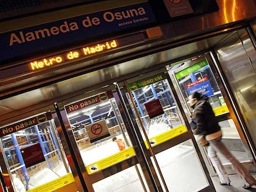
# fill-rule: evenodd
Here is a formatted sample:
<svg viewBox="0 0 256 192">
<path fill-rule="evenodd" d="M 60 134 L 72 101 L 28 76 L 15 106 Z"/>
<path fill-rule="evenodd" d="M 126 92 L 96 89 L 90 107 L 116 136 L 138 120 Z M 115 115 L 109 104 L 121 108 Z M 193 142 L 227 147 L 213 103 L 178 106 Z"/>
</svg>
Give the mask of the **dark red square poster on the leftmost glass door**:
<svg viewBox="0 0 256 192">
<path fill-rule="evenodd" d="M 45 161 L 45 156 L 43 155 L 40 143 L 33 144 L 27 148 L 22 148 L 20 149 L 20 152 L 26 167 L 31 167 Z"/>
</svg>

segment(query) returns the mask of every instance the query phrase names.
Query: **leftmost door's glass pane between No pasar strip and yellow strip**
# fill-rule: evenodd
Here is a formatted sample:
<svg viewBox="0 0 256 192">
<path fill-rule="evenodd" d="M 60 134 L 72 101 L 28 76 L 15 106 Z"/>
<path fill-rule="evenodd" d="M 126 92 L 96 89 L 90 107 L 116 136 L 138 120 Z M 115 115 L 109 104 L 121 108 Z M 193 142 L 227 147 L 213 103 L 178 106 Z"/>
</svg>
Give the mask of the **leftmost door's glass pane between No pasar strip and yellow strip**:
<svg viewBox="0 0 256 192">
<path fill-rule="evenodd" d="M 1 137 L 15 191 L 30 190 L 69 172 L 55 131 L 53 120 L 49 120 Z"/>
</svg>

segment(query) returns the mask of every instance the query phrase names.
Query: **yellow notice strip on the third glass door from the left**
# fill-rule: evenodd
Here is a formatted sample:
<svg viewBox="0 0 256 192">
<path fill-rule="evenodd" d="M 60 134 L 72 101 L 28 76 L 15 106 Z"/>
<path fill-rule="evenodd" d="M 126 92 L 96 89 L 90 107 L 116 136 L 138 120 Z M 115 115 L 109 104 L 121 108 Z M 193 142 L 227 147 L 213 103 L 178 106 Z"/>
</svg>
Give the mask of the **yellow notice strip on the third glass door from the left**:
<svg viewBox="0 0 256 192">
<path fill-rule="evenodd" d="M 157 144 L 163 143 L 164 141 L 168 141 L 171 138 L 174 138 L 178 135 L 181 135 L 182 133 L 185 133 L 185 132 L 187 132 L 186 127 L 184 125 L 179 125 L 175 128 L 172 128 L 171 130 L 161 133 L 160 135 L 156 135 L 153 138 L 150 138 L 149 141 L 151 143 L 151 146 L 155 146 Z M 144 141 L 144 142 L 148 149 L 147 141 Z"/>
</svg>

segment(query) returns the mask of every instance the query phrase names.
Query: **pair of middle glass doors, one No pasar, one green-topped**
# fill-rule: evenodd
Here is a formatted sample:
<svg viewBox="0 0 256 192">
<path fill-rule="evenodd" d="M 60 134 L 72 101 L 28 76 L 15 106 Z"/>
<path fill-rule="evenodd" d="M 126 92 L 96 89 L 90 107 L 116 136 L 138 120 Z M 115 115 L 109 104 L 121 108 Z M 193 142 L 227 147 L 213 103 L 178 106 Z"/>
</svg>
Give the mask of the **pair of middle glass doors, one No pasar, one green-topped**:
<svg viewBox="0 0 256 192">
<path fill-rule="evenodd" d="M 213 190 L 169 80 L 147 73 L 64 106 L 89 191 Z"/>
</svg>

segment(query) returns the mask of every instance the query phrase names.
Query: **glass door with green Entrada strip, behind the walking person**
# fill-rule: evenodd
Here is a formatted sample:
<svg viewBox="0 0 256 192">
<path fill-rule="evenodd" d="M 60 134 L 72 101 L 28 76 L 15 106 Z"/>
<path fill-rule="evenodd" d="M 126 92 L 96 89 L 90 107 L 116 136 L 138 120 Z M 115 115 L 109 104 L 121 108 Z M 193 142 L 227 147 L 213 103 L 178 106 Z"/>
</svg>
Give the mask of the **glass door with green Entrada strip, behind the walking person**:
<svg viewBox="0 0 256 192">
<path fill-rule="evenodd" d="M 241 133 L 239 123 L 237 123 L 233 107 L 227 99 L 228 96 L 224 89 L 220 88 L 223 87 L 221 81 L 216 80 L 215 77 L 218 77 L 218 75 L 210 64 L 213 64 L 210 54 L 204 54 L 203 56 L 195 56 L 185 61 L 171 64 L 168 66 L 168 72 L 176 85 L 182 106 L 186 109 L 187 118 L 192 112 L 187 104 L 188 96 L 194 91 L 205 94 L 223 131 L 223 143 L 240 162 L 250 162 L 252 161 L 252 155 L 241 140 L 244 136 Z M 203 152 L 205 152 L 204 156 L 207 158 L 206 148 L 203 148 Z M 229 168 L 230 163 L 221 154 L 220 159 L 223 165 Z M 228 170 L 229 173 L 233 173 L 233 169 Z M 215 172 L 213 169 L 211 171 L 212 173 Z"/>
</svg>

